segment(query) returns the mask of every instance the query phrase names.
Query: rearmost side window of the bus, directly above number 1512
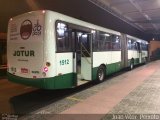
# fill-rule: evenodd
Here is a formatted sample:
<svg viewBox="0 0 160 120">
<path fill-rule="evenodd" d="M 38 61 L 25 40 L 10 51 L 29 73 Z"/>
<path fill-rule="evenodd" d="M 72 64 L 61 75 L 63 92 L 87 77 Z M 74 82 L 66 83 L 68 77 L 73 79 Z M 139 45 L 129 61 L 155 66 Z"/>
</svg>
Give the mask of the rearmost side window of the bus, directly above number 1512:
<svg viewBox="0 0 160 120">
<path fill-rule="evenodd" d="M 65 23 L 57 22 L 57 52 L 70 52 L 72 51 L 72 42 L 69 37 L 69 29 Z"/>
</svg>

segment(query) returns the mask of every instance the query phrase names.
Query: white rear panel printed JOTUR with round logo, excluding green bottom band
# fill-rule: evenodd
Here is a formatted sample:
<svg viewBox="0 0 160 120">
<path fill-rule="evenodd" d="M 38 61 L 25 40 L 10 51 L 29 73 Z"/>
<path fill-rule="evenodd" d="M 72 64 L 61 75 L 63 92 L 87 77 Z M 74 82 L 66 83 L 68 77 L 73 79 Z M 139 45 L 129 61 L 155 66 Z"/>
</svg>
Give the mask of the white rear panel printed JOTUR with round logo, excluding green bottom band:
<svg viewBox="0 0 160 120">
<path fill-rule="evenodd" d="M 43 15 L 24 15 L 9 21 L 9 72 L 27 78 L 41 77 L 43 64 Z M 38 46 L 38 47 L 36 47 Z M 30 66 L 34 66 L 31 69 Z M 12 71 L 11 68 L 16 68 Z M 36 71 L 36 72 L 32 72 Z"/>
</svg>

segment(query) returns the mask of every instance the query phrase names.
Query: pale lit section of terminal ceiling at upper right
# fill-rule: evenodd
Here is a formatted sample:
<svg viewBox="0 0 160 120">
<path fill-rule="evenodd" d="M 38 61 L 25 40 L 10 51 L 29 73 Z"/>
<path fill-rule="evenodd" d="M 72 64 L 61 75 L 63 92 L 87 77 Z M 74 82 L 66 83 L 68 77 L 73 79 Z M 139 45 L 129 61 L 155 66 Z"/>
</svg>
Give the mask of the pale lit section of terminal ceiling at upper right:
<svg viewBox="0 0 160 120">
<path fill-rule="evenodd" d="M 90 0 L 141 31 L 160 34 L 160 0 Z"/>
</svg>

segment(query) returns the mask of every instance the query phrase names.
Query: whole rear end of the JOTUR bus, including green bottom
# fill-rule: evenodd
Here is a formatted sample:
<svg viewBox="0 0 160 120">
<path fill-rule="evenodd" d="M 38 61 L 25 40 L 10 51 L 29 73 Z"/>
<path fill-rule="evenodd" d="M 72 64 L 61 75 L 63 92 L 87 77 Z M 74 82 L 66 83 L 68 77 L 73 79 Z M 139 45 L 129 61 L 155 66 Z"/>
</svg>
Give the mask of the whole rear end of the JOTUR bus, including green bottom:
<svg viewBox="0 0 160 120">
<path fill-rule="evenodd" d="M 44 88 L 44 12 L 29 12 L 11 18 L 8 24 L 8 79 Z"/>
</svg>

